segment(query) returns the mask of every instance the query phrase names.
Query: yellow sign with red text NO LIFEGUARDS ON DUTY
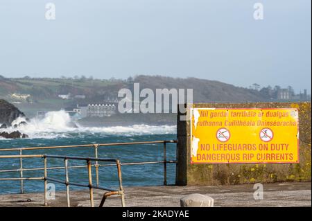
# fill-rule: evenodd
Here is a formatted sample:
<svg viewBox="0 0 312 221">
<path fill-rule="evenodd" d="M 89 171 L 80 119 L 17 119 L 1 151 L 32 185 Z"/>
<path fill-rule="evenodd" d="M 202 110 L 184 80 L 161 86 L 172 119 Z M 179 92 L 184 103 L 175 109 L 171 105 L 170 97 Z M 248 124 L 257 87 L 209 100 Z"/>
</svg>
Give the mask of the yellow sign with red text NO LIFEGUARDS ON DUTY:
<svg viewBox="0 0 312 221">
<path fill-rule="evenodd" d="M 298 111 L 191 108 L 191 163 L 299 163 Z"/>
</svg>

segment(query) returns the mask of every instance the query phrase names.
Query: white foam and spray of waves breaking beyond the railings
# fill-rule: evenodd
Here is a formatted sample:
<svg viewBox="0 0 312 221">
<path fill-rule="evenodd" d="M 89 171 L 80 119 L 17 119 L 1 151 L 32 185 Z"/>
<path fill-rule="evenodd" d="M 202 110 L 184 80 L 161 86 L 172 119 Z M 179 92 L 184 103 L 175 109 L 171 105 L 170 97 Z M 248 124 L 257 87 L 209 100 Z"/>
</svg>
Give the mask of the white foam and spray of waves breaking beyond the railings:
<svg viewBox="0 0 312 221">
<path fill-rule="evenodd" d="M 25 118 L 17 118 L 12 125 L 19 125 Z M 44 118 L 32 118 L 26 125 L 10 127 L 7 132 L 19 130 L 34 138 L 62 138 L 83 136 L 84 134 L 100 134 L 101 136 L 135 136 L 147 134 L 174 134 L 176 127 L 173 125 L 131 125 L 114 127 L 83 127 L 71 121 L 71 117 L 64 111 L 48 112 Z M 1 131 L 1 130 L 0 130 Z M 4 130 L 3 130 L 4 131 Z"/>
</svg>

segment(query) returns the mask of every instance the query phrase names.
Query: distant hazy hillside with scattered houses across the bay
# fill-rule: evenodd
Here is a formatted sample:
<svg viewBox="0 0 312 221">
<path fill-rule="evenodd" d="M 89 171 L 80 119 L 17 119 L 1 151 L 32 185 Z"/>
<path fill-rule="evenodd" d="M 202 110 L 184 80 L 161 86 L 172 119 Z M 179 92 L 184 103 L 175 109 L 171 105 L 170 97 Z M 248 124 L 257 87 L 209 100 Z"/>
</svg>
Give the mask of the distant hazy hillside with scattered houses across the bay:
<svg viewBox="0 0 312 221">
<path fill-rule="evenodd" d="M 223 82 L 198 78 L 169 78 L 164 76 L 136 76 L 127 80 L 99 80 L 75 78 L 4 78 L 0 76 L 0 99 L 6 99 L 33 117 L 38 110 L 51 111 L 87 105 L 89 103 L 116 103 L 122 88 L 193 89 L 194 103 L 245 103 L 268 101 L 268 97 L 254 89 L 235 87 Z M 70 94 L 62 99 L 60 94 Z M 78 96 L 78 97 L 77 97 Z M 83 96 L 83 98 L 81 98 Z"/>
</svg>

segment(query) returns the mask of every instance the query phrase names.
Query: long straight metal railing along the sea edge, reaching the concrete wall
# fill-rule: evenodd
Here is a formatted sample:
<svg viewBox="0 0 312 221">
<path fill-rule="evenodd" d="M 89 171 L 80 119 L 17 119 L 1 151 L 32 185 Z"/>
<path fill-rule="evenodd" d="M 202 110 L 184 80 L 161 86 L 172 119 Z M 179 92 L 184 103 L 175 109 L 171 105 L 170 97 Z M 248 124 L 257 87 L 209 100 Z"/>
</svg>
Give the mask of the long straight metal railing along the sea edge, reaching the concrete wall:
<svg viewBox="0 0 312 221">
<path fill-rule="evenodd" d="M 24 180 L 31 180 L 31 179 L 42 179 L 42 177 L 24 177 L 24 171 L 30 171 L 30 170 L 59 170 L 59 169 L 65 169 L 68 170 L 69 168 L 85 168 L 85 167 L 94 167 L 96 170 L 96 188 L 101 188 L 99 186 L 99 167 L 103 166 L 115 166 L 115 163 L 112 164 L 99 164 L 97 159 L 98 158 L 98 148 L 101 147 L 107 147 L 107 146 L 121 146 L 121 145 L 142 145 L 142 144 L 157 144 L 157 143 L 163 143 L 163 160 L 162 161 L 141 161 L 141 162 L 129 162 L 129 163 L 121 163 L 121 166 L 126 165 L 143 165 L 143 164 L 154 164 L 154 163 L 162 163 L 164 165 L 164 185 L 167 185 L 167 163 L 177 163 L 177 160 L 167 160 L 166 157 L 166 144 L 167 143 L 177 143 L 176 140 L 169 140 L 169 141 L 141 141 L 141 142 L 125 142 L 125 143 L 98 143 L 98 144 L 85 144 L 85 145 L 61 145 L 61 146 L 49 146 L 49 147 L 31 147 L 31 148 L 3 148 L 0 149 L 1 152 L 5 151 L 18 151 L 19 155 L 0 155 L 1 158 L 13 158 L 12 156 L 15 156 L 14 158 L 19 158 L 19 168 L 17 169 L 8 169 L 8 170 L 0 170 L 0 173 L 8 173 L 8 172 L 19 172 L 19 178 L 0 178 L 1 180 L 20 180 L 20 193 L 24 193 Z M 27 157 L 42 157 L 44 154 L 33 154 L 33 155 L 23 155 L 23 151 L 26 150 L 52 150 L 52 149 L 63 149 L 63 148 L 94 148 L 94 158 L 88 158 L 90 161 L 90 165 L 87 164 L 81 165 L 81 166 L 54 166 L 54 167 L 43 167 L 43 168 L 24 168 L 23 167 L 23 158 Z M 66 156 L 55 156 L 55 155 L 45 155 L 45 156 L 52 156 L 54 158 L 62 158 Z M 85 159 L 83 157 L 76 157 L 80 159 Z M 67 157 L 69 159 L 69 157 Z M 92 160 L 91 160 L 92 159 Z M 94 164 L 91 163 L 91 161 L 94 161 Z M 65 171 L 66 172 L 66 171 Z M 55 180 L 54 180 L 55 181 Z M 62 182 L 64 184 L 64 182 Z M 92 186 L 94 188 L 94 186 Z M 104 198 L 103 198 L 104 199 Z M 104 200 L 105 201 L 105 200 Z"/>
</svg>

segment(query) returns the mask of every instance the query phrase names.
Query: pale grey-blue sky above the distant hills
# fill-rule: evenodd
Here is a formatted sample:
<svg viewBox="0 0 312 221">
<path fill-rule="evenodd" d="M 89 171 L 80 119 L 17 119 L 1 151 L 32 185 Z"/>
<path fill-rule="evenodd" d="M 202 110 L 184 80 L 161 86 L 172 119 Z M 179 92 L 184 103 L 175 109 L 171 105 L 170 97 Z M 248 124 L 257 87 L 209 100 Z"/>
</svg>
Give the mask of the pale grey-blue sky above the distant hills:
<svg viewBox="0 0 312 221">
<path fill-rule="evenodd" d="M 135 74 L 310 92 L 311 1 L 0 0 L 0 75 Z"/>
</svg>

